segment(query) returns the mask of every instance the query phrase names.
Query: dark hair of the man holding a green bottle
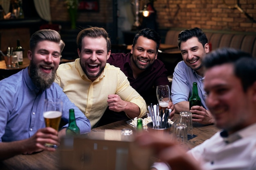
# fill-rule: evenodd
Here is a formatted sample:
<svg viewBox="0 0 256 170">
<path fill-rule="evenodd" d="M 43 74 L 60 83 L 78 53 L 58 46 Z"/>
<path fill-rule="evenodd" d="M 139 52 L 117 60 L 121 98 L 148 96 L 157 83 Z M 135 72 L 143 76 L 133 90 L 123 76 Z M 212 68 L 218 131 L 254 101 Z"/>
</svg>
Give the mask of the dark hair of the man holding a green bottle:
<svg viewBox="0 0 256 170">
<path fill-rule="evenodd" d="M 188 39 L 191 39 L 192 37 L 197 37 L 198 41 L 203 45 L 208 43 L 208 39 L 206 37 L 206 34 L 202 31 L 202 29 L 195 27 L 191 28 L 189 30 L 183 30 L 178 35 L 178 47 L 180 48 L 180 44 L 183 41 L 187 41 Z"/>
</svg>

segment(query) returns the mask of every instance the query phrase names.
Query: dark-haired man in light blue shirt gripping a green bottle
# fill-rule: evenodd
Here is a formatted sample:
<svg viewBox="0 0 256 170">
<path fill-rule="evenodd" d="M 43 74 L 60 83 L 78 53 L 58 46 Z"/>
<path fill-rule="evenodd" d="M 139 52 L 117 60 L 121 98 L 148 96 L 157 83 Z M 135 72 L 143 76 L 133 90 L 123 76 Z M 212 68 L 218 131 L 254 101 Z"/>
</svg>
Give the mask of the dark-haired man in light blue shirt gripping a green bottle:
<svg viewBox="0 0 256 170">
<path fill-rule="evenodd" d="M 183 61 L 180 61 L 173 73 L 171 86 L 171 99 L 177 113 L 190 111 L 193 115 L 193 122 L 201 124 L 212 124 L 214 119 L 205 104 L 206 94 L 203 87 L 204 68 L 202 59 L 209 52 L 208 39 L 200 28 L 192 28 L 180 32 L 178 46 Z M 192 94 L 193 82 L 198 83 L 198 94 L 202 106 L 189 108 L 189 98 Z"/>
</svg>

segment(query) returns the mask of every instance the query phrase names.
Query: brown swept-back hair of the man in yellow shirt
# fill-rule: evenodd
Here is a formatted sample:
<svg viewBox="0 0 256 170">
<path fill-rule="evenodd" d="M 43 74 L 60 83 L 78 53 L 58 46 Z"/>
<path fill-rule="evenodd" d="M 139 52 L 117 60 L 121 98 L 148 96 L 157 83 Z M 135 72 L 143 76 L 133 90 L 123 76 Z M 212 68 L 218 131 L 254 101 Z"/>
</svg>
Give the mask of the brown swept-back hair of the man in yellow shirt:
<svg viewBox="0 0 256 170">
<path fill-rule="evenodd" d="M 99 27 L 89 27 L 84 28 L 82 31 L 80 31 L 76 37 L 76 45 L 77 48 L 81 51 L 82 48 L 82 40 L 84 37 L 92 37 L 92 38 L 98 38 L 103 37 L 107 41 L 107 51 L 109 52 L 111 49 L 111 41 L 108 37 L 108 33 L 104 28 Z"/>
</svg>

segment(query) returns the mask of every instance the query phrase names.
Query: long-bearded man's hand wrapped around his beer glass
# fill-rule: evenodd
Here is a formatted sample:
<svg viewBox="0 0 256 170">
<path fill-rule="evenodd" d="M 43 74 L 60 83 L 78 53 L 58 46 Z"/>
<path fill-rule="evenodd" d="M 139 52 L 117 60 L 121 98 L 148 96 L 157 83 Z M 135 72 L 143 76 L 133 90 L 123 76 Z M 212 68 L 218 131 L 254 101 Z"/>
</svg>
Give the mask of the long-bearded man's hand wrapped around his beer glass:
<svg viewBox="0 0 256 170">
<path fill-rule="evenodd" d="M 23 154 L 31 154 L 42 150 L 56 150 L 55 148 L 46 147 L 45 143 L 56 144 L 59 146 L 60 139 L 58 137 L 58 132 L 55 129 L 51 127 L 39 129 L 32 137 L 25 139 L 23 146 L 25 152 L 23 152 Z"/>
</svg>

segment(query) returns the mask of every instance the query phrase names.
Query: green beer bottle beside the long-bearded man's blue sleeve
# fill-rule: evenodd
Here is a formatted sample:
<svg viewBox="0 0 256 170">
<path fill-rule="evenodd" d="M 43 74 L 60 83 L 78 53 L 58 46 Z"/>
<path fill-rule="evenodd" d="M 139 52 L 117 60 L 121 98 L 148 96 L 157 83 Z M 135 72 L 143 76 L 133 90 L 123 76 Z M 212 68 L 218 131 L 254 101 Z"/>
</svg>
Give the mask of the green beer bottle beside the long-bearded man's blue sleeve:
<svg viewBox="0 0 256 170">
<path fill-rule="evenodd" d="M 70 117 L 69 117 L 69 120 L 68 120 L 68 127 L 66 129 L 66 135 L 67 136 L 80 135 L 80 129 L 76 125 L 76 118 L 75 118 L 74 109 L 70 109 Z"/>
</svg>

